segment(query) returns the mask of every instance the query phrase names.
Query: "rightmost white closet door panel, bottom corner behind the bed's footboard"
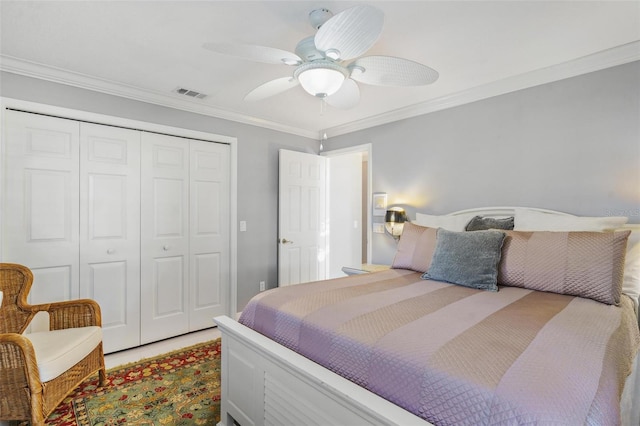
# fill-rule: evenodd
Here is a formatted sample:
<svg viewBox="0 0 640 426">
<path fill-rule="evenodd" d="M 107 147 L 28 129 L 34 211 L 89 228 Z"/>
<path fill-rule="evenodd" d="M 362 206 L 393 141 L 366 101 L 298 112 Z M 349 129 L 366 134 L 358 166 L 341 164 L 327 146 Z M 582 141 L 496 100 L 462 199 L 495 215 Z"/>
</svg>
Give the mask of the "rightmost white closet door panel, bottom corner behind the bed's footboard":
<svg viewBox="0 0 640 426">
<path fill-rule="evenodd" d="M 189 331 L 229 313 L 229 152 L 224 144 L 190 143 Z"/>
</svg>

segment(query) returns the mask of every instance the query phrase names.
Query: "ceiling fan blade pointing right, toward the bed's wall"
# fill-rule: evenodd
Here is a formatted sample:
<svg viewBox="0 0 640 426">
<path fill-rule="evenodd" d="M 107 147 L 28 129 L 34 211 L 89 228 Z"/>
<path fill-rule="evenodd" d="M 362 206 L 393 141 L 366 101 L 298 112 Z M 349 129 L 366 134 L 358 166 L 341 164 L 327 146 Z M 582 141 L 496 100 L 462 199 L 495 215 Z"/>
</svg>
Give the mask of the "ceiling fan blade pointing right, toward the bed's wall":
<svg viewBox="0 0 640 426">
<path fill-rule="evenodd" d="M 422 86 L 439 77 L 433 68 L 392 56 L 365 56 L 347 68 L 354 80 L 375 86 Z"/>
</svg>

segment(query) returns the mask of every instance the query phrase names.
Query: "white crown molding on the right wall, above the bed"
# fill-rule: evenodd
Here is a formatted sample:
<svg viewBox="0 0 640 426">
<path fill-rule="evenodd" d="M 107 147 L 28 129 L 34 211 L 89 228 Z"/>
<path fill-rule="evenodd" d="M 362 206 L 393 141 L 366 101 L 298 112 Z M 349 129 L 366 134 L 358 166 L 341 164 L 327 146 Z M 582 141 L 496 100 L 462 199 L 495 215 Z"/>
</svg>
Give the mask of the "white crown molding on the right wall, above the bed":
<svg viewBox="0 0 640 426">
<path fill-rule="evenodd" d="M 458 93 L 367 117 L 341 126 L 323 129 L 318 134 L 322 135 L 326 132 L 327 137 L 332 137 L 352 133 L 638 60 L 640 60 L 640 41 L 634 41 L 561 64 L 472 87 Z"/>
</svg>

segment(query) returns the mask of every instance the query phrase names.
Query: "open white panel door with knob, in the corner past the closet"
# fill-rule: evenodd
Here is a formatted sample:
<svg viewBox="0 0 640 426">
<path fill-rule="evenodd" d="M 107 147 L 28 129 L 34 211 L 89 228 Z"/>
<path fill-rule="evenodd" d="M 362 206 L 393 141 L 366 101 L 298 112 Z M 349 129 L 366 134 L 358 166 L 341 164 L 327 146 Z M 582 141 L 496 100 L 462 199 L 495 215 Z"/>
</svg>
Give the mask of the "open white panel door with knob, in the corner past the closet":
<svg viewBox="0 0 640 426">
<path fill-rule="evenodd" d="M 326 158 L 280 150 L 278 285 L 324 279 Z"/>
</svg>

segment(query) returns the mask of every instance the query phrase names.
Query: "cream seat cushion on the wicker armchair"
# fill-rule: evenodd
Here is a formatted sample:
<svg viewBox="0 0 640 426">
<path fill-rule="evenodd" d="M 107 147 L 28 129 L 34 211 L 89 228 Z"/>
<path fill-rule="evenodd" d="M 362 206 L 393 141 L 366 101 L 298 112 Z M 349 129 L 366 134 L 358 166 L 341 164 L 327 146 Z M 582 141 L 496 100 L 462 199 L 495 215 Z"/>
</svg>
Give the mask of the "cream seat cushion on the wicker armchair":
<svg viewBox="0 0 640 426">
<path fill-rule="evenodd" d="M 36 353 L 40 381 L 48 382 L 77 364 L 102 342 L 97 326 L 25 334 Z"/>
</svg>

